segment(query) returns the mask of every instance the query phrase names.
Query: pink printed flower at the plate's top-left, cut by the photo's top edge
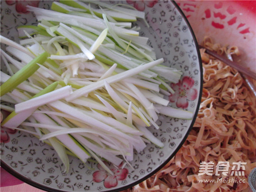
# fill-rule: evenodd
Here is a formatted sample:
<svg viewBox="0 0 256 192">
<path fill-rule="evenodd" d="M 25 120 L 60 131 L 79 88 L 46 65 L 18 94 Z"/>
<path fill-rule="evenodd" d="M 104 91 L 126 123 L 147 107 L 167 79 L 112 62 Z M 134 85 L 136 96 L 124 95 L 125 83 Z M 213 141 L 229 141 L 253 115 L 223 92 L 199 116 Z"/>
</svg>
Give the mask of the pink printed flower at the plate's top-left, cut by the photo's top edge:
<svg viewBox="0 0 256 192">
<path fill-rule="evenodd" d="M 15 9 L 18 13 L 28 13 L 26 6 L 38 7 L 39 0 L 6 0 L 8 5 L 15 5 Z"/>
</svg>

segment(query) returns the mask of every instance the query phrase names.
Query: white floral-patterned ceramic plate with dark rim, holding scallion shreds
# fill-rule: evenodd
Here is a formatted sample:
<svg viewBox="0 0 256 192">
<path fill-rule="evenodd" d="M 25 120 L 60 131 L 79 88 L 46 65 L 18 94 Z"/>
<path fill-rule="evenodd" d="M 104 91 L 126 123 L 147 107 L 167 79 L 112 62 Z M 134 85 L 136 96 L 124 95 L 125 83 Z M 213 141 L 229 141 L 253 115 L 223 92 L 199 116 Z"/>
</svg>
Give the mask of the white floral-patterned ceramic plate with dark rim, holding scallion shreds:
<svg viewBox="0 0 256 192">
<path fill-rule="evenodd" d="M 11 3 L 10 3 L 11 2 Z M 51 1 L 28 1 L 49 9 Z M 105 1 L 106 2 L 106 1 Z M 23 1 L 1 1 L 1 35 L 18 41 L 16 27 L 34 23 L 31 12 L 26 12 Z M 109 1 L 113 4 L 117 1 Z M 120 3 L 120 1 L 118 1 Z M 127 3 L 127 2 L 122 2 Z M 78 158 L 70 157 L 70 172 L 64 173 L 64 165 L 49 145 L 36 137 L 21 131 L 1 128 L 1 166 L 11 174 L 46 191 L 120 191 L 142 182 L 162 168 L 186 140 L 197 116 L 202 92 L 202 65 L 199 49 L 192 29 L 179 7 L 172 1 L 128 1 L 132 6 L 143 9 L 150 25 L 143 21 L 140 35 L 149 37 L 150 44 L 157 52 L 157 58 L 164 58 L 164 64 L 183 71 L 179 83 L 172 84 L 175 95 L 169 99 L 175 108 L 194 113 L 192 120 L 160 116 L 160 129 L 150 128 L 165 146 L 154 144 L 134 154 L 128 166 L 111 166 L 114 173 L 109 175 L 97 163 L 88 161 L 84 165 Z M 25 13 L 22 13 L 25 12 Z M 4 45 L 1 45 L 4 49 Z M 1 70 L 5 68 L 1 66 Z"/>
</svg>

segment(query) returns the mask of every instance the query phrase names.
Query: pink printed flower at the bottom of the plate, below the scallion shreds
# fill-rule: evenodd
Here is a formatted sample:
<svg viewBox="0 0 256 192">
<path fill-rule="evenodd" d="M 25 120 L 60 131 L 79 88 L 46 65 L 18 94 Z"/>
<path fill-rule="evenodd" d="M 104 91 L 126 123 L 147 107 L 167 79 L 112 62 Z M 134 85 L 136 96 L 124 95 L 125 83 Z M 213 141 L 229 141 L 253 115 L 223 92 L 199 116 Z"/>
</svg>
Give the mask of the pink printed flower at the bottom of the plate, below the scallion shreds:
<svg viewBox="0 0 256 192">
<path fill-rule="evenodd" d="M 112 164 L 110 165 L 110 169 L 113 172 L 113 175 L 106 172 L 105 169 L 103 169 L 103 167 L 100 164 L 98 164 L 97 167 L 99 170 L 93 173 L 93 181 L 97 183 L 104 181 L 104 186 L 106 188 L 112 188 L 117 186 L 118 181 L 125 180 L 128 175 L 128 169 L 126 168 L 121 169 L 122 164 L 123 163 L 121 163 L 118 166 L 118 168 L 116 168 Z"/>
</svg>

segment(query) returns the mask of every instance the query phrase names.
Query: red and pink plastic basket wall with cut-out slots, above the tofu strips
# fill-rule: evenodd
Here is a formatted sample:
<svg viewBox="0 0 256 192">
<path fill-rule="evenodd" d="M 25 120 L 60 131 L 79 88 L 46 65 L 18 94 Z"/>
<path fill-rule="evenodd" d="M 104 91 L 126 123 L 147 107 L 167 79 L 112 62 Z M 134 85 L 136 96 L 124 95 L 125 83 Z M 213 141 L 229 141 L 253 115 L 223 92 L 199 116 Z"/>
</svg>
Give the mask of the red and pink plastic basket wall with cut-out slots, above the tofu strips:
<svg viewBox="0 0 256 192">
<path fill-rule="evenodd" d="M 192 26 L 200 44 L 204 36 L 222 45 L 238 46 L 234 58 L 256 70 L 256 1 L 176 1 Z"/>
</svg>

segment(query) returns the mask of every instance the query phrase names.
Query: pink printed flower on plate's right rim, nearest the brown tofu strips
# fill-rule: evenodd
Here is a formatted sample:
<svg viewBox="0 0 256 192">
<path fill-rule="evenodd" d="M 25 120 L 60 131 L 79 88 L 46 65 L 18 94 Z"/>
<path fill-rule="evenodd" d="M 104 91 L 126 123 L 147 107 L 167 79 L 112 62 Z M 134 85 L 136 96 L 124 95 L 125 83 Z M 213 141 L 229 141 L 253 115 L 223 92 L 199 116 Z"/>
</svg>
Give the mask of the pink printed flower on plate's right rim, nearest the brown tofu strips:
<svg viewBox="0 0 256 192">
<path fill-rule="evenodd" d="M 198 91 L 194 88 L 195 81 L 188 77 L 184 76 L 182 80 L 179 80 L 178 83 L 172 83 L 171 87 L 175 91 L 174 94 L 171 93 L 169 96 L 170 102 L 176 102 L 178 108 L 186 109 L 189 106 L 189 101 L 196 99 Z"/>
</svg>

